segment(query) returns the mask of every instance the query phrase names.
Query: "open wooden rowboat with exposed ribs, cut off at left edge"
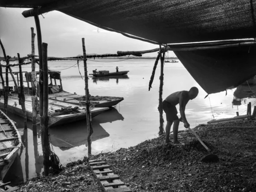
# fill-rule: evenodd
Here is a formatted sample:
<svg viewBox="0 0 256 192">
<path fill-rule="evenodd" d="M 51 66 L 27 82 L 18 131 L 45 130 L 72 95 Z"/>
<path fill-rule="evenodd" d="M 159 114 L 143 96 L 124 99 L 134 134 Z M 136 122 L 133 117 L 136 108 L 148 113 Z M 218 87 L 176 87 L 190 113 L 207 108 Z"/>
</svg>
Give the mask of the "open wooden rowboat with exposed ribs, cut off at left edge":
<svg viewBox="0 0 256 192">
<path fill-rule="evenodd" d="M 14 122 L 0 110 L 0 180 L 20 155 L 22 142 Z"/>
</svg>

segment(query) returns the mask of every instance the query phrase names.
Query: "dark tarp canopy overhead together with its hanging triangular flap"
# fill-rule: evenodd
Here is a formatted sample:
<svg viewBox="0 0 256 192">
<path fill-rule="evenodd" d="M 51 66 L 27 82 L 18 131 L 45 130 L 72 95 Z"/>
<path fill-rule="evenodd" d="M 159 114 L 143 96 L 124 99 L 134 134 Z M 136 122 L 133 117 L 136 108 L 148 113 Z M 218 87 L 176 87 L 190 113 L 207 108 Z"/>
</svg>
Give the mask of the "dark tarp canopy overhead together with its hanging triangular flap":
<svg viewBox="0 0 256 192">
<path fill-rule="evenodd" d="M 2 0 L 0 6 L 31 8 L 56 0 Z M 63 0 L 72 17 L 163 44 L 254 38 L 253 0 Z M 76 3 L 78 2 L 78 3 Z M 60 3 L 61 4 L 61 3 Z M 256 75 L 255 47 L 175 51 L 207 93 Z"/>
</svg>

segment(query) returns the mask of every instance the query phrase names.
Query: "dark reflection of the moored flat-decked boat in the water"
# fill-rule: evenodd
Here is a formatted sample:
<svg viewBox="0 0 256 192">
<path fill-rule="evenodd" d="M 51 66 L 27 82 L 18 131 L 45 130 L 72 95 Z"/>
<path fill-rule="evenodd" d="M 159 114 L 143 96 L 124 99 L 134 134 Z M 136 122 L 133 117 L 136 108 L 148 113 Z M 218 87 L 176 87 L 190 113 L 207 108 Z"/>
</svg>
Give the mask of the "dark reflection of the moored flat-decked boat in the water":
<svg viewBox="0 0 256 192">
<path fill-rule="evenodd" d="M 124 119 L 124 117 L 116 110 L 116 108 L 111 108 L 108 113 L 102 113 L 95 118 L 92 121 L 92 142 L 105 137 L 109 137 L 108 132 L 105 131 L 105 129 L 100 124 Z M 50 129 L 50 134 L 52 145 L 59 147 L 62 151 L 84 144 L 87 145 L 86 121 L 76 122 L 73 126 L 70 126 L 69 124 L 53 127 Z"/>
</svg>

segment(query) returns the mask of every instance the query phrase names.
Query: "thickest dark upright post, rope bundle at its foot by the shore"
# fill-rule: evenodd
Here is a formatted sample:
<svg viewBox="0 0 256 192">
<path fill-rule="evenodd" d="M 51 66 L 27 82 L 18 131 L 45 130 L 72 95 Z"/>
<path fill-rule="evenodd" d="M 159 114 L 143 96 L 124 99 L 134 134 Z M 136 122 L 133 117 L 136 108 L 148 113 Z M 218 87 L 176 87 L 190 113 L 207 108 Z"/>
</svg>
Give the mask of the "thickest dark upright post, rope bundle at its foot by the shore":
<svg viewBox="0 0 256 192">
<path fill-rule="evenodd" d="M 44 155 L 44 175 L 49 174 L 49 166 L 50 166 L 50 145 L 49 145 L 49 128 L 48 128 L 48 63 L 47 63 L 47 45 L 46 43 L 42 44 L 42 64 L 43 68 L 41 73 L 43 74 L 43 98 L 39 100 L 43 100 L 43 105 L 40 105 L 41 111 L 43 111 L 43 116 L 41 116 L 41 143 Z"/>
</svg>

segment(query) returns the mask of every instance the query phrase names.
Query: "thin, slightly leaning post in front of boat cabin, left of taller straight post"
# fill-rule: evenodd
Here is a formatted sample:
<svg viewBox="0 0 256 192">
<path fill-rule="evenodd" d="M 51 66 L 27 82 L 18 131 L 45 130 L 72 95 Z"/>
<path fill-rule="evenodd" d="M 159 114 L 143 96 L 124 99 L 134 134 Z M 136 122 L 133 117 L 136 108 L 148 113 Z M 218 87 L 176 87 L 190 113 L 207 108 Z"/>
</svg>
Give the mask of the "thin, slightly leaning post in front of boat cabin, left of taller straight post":
<svg viewBox="0 0 256 192">
<path fill-rule="evenodd" d="M 18 61 L 19 64 L 21 64 L 20 60 L 20 53 L 17 53 L 18 55 Z M 23 111 L 23 119 L 24 119 L 24 128 L 27 128 L 27 120 L 26 120 L 26 107 L 25 107 L 25 93 L 24 93 L 24 87 L 23 87 L 23 74 L 21 65 L 19 65 L 20 70 L 20 91 L 18 90 L 18 97 L 19 97 L 19 104 L 21 105 L 22 111 Z M 19 89 L 19 87 L 17 87 Z"/>
</svg>

